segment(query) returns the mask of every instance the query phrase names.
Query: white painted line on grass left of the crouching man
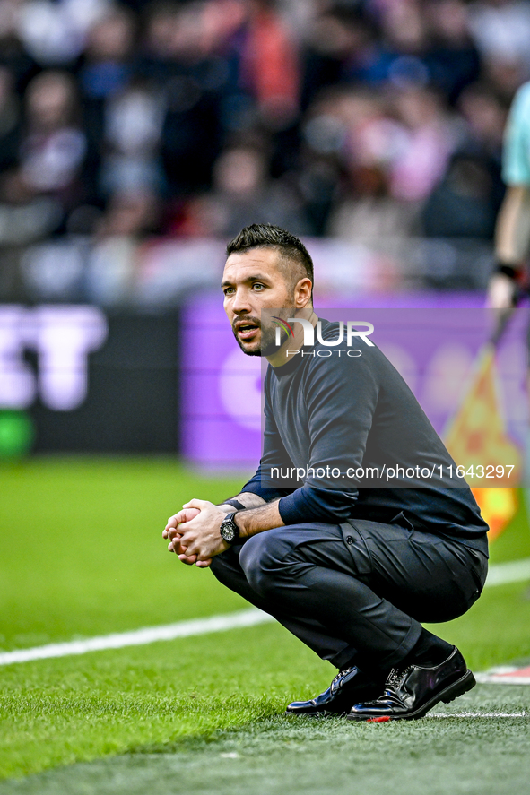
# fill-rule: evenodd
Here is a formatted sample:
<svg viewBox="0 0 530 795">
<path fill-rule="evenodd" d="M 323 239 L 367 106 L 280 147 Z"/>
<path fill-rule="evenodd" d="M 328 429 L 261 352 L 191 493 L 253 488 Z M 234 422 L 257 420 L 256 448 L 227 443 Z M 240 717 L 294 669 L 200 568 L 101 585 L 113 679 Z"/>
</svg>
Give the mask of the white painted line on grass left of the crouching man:
<svg viewBox="0 0 530 795">
<path fill-rule="evenodd" d="M 100 635 L 86 640 L 68 641 L 64 644 L 48 644 L 32 649 L 16 649 L 13 652 L 0 653 L 0 665 L 12 665 L 13 662 L 30 662 L 32 660 L 48 660 L 50 657 L 66 657 L 71 654 L 101 652 L 105 649 L 123 649 L 124 646 L 143 646 L 157 641 L 172 641 L 178 637 L 190 635 L 206 635 L 209 632 L 224 632 L 242 626 L 256 626 L 274 621 L 272 616 L 256 608 L 239 610 L 226 616 L 211 618 L 195 618 L 191 621 L 178 621 L 177 624 L 165 626 L 148 626 L 133 632 L 119 632 L 113 635 Z"/>
</svg>

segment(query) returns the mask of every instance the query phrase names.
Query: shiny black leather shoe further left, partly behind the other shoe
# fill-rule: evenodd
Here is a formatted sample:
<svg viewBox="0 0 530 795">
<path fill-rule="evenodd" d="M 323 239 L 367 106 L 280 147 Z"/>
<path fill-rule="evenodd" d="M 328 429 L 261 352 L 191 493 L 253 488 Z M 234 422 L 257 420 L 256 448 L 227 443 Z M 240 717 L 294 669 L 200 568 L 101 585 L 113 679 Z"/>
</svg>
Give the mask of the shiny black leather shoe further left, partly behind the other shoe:
<svg viewBox="0 0 530 795">
<path fill-rule="evenodd" d="M 361 699 L 375 698 L 381 692 L 382 679 L 374 682 L 356 666 L 341 670 L 331 685 L 320 696 L 310 701 L 293 701 L 285 710 L 286 715 L 335 715 L 340 717 L 350 712 L 352 704 Z"/>
</svg>

